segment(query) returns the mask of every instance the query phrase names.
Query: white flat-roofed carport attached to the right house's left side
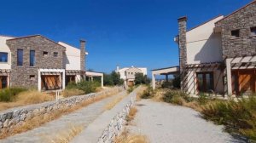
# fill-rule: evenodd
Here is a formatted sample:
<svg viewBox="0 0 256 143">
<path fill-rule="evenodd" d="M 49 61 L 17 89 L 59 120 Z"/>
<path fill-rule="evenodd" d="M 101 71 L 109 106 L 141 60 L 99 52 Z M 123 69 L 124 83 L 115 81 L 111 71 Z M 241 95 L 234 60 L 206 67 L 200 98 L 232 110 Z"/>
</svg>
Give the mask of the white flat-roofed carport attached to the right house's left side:
<svg viewBox="0 0 256 143">
<path fill-rule="evenodd" d="M 166 81 L 168 81 L 168 75 L 179 74 L 179 66 L 172 66 L 160 69 L 152 70 L 152 87 L 155 89 L 155 76 L 166 75 Z"/>
</svg>

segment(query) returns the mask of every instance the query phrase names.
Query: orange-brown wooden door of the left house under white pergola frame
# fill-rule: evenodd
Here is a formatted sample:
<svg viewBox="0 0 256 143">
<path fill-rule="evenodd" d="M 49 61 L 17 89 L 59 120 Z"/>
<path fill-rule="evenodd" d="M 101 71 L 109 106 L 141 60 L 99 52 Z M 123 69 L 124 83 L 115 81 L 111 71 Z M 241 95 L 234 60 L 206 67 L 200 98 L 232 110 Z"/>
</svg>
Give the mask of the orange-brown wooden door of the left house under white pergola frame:
<svg viewBox="0 0 256 143">
<path fill-rule="evenodd" d="M 61 89 L 60 76 L 58 75 L 47 75 L 42 76 L 42 87 L 43 89 Z"/>
</svg>

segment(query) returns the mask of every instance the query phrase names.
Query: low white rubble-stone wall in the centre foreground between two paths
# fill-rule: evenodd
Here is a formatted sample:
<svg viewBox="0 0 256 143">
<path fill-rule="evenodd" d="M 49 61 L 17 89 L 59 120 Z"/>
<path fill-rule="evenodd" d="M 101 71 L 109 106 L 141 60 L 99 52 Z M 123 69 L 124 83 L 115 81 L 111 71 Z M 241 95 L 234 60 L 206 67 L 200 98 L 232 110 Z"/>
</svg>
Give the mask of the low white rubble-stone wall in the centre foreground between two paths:
<svg viewBox="0 0 256 143">
<path fill-rule="evenodd" d="M 134 105 L 134 100 L 130 100 L 124 109 L 119 112 L 112 121 L 108 124 L 108 127 L 103 131 L 102 136 L 99 138 L 98 143 L 110 143 L 113 142 L 116 136 L 121 133 L 123 126 L 126 123 L 126 116 L 129 114 L 131 106 Z"/>
</svg>

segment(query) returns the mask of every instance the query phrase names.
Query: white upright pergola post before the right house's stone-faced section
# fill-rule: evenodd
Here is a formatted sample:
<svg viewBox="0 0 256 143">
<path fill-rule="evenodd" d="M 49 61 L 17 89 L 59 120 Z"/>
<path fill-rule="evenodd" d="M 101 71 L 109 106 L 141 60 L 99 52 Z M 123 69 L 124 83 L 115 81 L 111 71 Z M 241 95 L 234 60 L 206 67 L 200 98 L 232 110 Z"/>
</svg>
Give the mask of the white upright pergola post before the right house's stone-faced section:
<svg viewBox="0 0 256 143">
<path fill-rule="evenodd" d="M 226 59 L 226 88 L 228 95 L 232 95 L 232 76 L 231 76 L 231 59 Z"/>
</svg>

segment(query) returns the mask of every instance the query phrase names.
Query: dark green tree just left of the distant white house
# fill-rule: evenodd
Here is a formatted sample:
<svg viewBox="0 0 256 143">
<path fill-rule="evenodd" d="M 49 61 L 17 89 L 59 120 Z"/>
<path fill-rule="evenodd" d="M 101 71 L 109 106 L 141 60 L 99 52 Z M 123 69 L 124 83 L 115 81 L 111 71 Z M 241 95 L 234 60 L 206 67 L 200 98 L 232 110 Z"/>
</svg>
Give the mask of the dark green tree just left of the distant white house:
<svg viewBox="0 0 256 143">
<path fill-rule="evenodd" d="M 110 74 L 104 73 L 104 85 L 114 86 L 114 85 L 122 85 L 124 80 L 120 78 L 120 74 L 117 72 L 111 72 Z"/>
</svg>

